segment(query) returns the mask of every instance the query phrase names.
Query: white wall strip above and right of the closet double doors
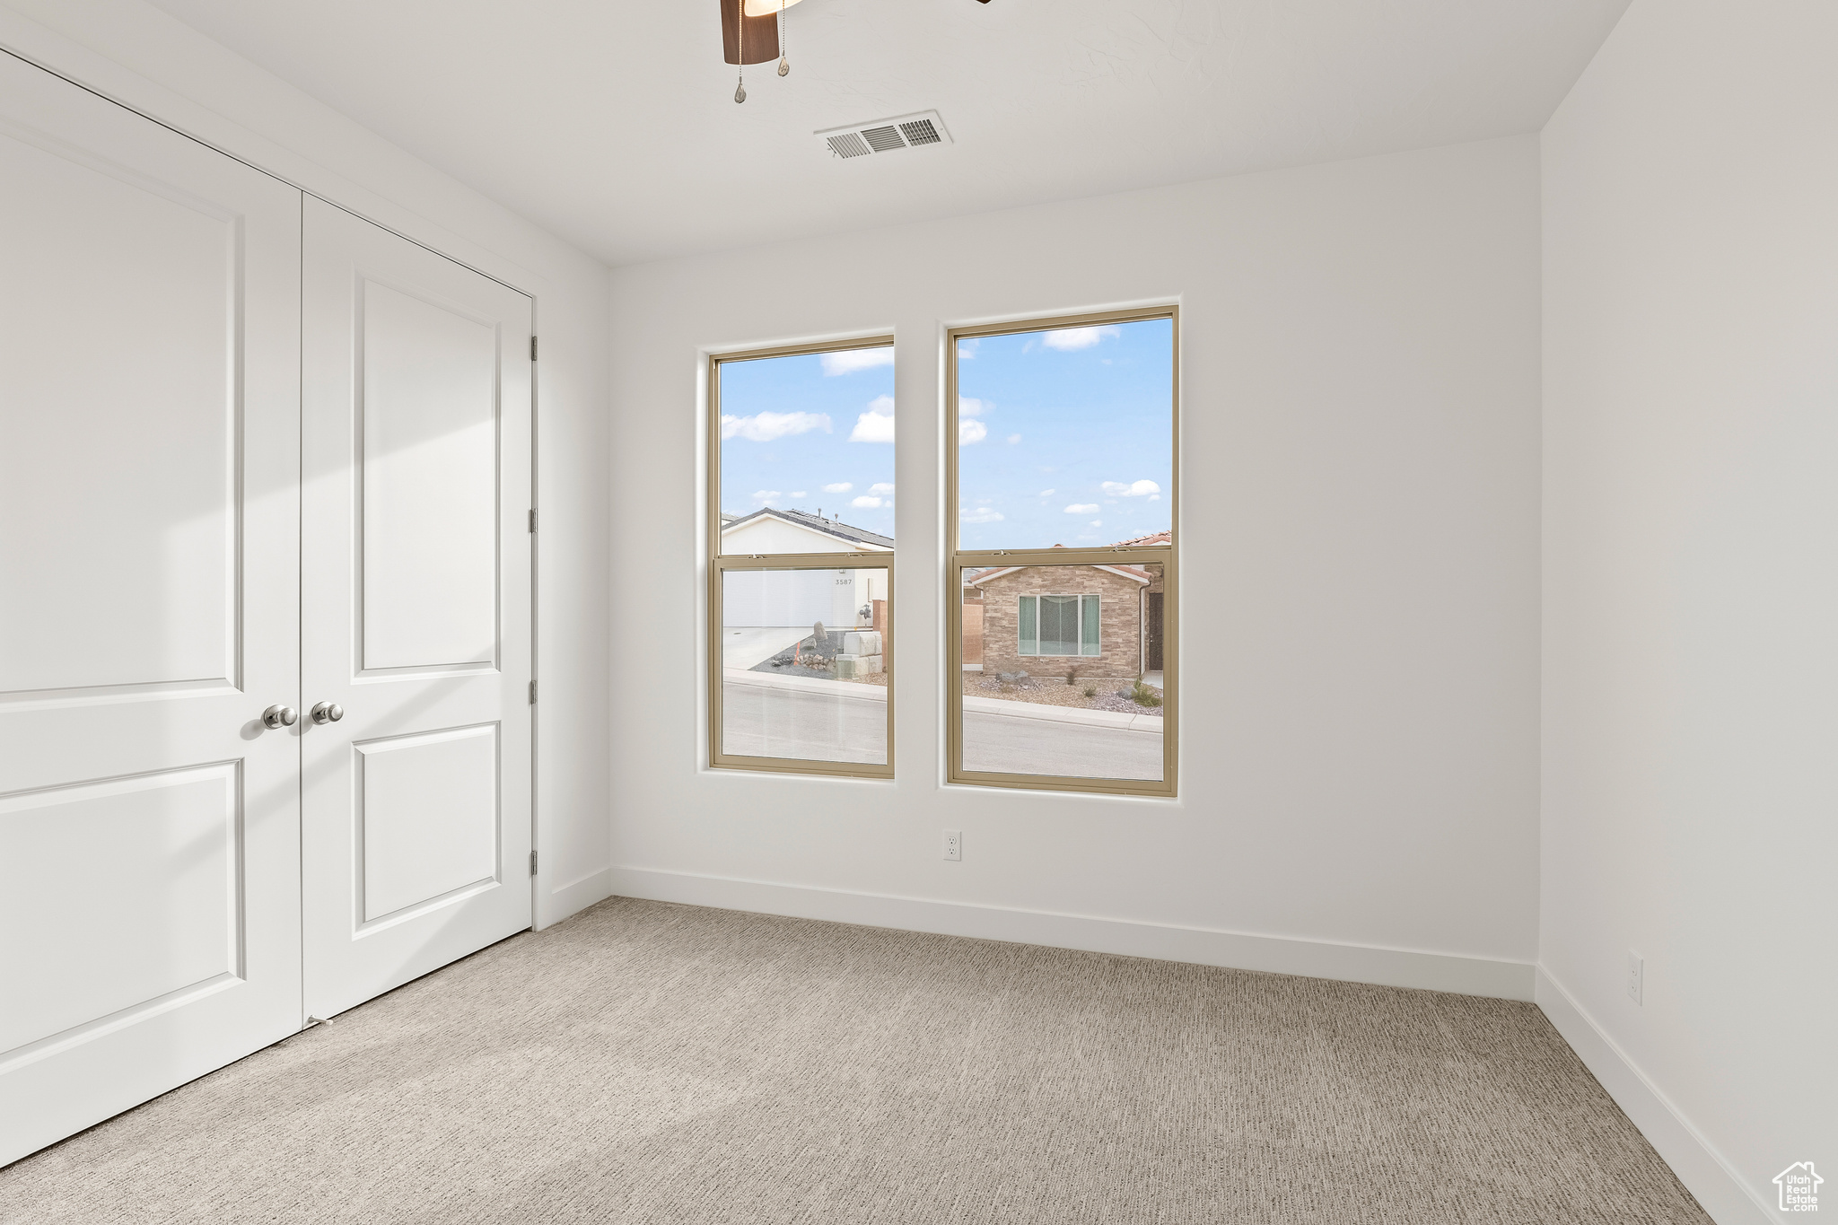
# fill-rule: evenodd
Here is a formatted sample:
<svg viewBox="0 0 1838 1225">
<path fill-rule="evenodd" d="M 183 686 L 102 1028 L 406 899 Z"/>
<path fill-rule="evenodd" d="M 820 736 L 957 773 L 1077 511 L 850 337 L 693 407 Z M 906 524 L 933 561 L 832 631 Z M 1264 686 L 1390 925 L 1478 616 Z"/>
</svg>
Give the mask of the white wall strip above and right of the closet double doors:
<svg viewBox="0 0 1838 1225">
<path fill-rule="evenodd" d="M 142 0 L 4 0 L 0 48 L 537 299 L 537 918 L 605 896 L 605 266 Z"/>
</svg>

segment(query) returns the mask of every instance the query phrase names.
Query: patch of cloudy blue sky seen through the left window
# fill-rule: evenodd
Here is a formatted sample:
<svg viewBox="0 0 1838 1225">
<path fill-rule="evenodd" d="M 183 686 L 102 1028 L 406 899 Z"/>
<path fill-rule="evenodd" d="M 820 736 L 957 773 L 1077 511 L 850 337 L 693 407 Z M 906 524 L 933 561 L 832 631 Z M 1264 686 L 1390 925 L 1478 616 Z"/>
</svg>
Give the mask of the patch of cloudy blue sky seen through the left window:
<svg viewBox="0 0 1838 1225">
<path fill-rule="evenodd" d="M 893 534 L 893 347 L 720 365 L 720 509 Z"/>
</svg>

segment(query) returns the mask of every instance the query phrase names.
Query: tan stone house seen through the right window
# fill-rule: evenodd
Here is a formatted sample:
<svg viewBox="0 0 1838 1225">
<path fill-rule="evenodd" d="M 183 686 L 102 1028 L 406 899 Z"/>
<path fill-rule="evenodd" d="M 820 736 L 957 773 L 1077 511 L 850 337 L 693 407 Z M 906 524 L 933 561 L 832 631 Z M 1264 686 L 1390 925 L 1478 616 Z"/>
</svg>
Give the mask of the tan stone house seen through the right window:
<svg viewBox="0 0 1838 1225">
<path fill-rule="evenodd" d="M 1167 544 L 1167 533 L 1119 544 Z M 965 669 L 1033 676 L 1073 665 L 1086 676 L 1162 669 L 1160 568 L 998 566 L 967 575 L 963 586 Z M 970 634 L 970 621 L 980 621 L 980 634 Z"/>
</svg>

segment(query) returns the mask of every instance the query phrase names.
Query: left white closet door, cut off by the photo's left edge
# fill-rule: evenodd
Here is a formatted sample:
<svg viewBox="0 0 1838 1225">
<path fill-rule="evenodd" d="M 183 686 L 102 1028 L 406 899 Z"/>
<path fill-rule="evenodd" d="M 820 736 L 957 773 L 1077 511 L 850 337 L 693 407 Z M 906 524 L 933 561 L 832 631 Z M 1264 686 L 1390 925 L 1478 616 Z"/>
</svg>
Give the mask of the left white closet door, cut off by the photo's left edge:
<svg viewBox="0 0 1838 1225">
<path fill-rule="evenodd" d="M 300 1028 L 300 191 L 0 53 L 0 1164 Z"/>
</svg>

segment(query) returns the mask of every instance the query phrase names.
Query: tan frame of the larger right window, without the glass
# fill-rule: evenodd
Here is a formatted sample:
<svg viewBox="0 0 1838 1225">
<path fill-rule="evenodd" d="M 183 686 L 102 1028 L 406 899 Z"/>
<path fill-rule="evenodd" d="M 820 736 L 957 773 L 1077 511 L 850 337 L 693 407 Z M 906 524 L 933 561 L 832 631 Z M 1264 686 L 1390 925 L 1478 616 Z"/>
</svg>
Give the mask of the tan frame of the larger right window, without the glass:
<svg viewBox="0 0 1838 1225">
<path fill-rule="evenodd" d="M 1013 332 L 1040 332 L 1059 327 L 1095 327 L 1103 323 L 1136 323 L 1140 320 L 1171 320 L 1174 325 L 1173 358 L 1173 489 L 1169 492 L 1169 522 L 1173 545 L 1099 549 L 976 549 L 965 551 L 958 540 L 958 342 L 980 336 L 1007 336 Z M 1180 307 L 1145 307 L 1140 310 L 1105 310 L 1018 323 L 981 327 L 954 327 L 945 334 L 945 623 L 947 667 L 945 678 L 945 766 L 947 781 L 970 786 L 1013 786 L 1037 792 L 1094 792 L 1099 795 L 1156 795 L 1178 793 L 1176 749 L 1180 744 Z M 1066 775 L 1015 775 L 963 768 L 963 571 L 987 566 L 1105 566 L 1118 562 L 1162 564 L 1162 781 L 1140 779 L 1073 779 Z M 1055 656 L 1057 657 L 1057 656 Z"/>
</svg>

